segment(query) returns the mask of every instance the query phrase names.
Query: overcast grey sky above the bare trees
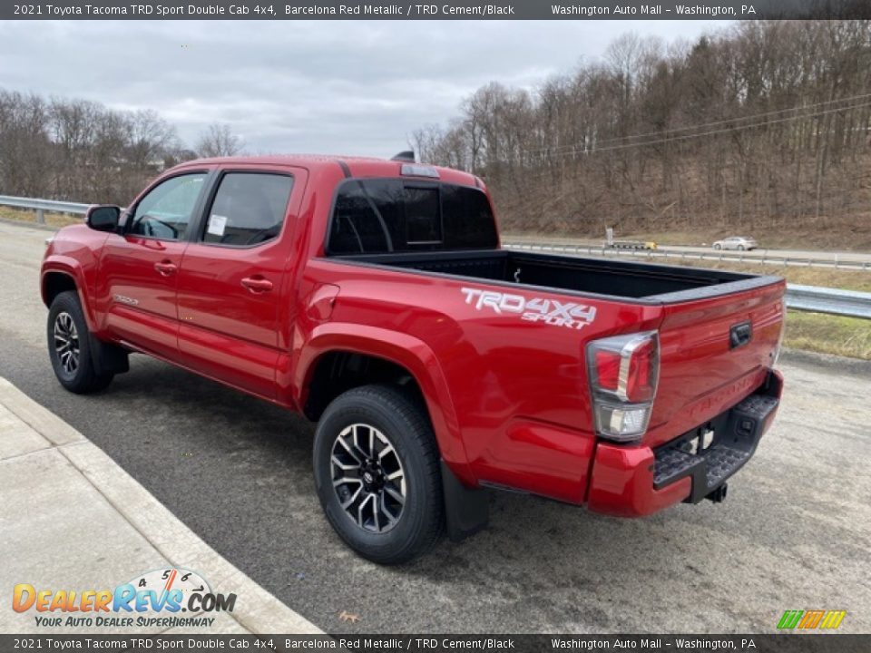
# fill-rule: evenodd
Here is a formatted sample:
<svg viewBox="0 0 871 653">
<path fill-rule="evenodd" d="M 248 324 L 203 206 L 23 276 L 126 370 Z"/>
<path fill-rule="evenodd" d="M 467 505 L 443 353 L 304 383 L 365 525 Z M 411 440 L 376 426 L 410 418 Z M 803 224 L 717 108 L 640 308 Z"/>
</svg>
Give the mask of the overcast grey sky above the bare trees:
<svg viewBox="0 0 871 653">
<path fill-rule="evenodd" d="M 690 21 L 0 23 L 0 88 L 153 109 L 192 145 L 226 122 L 249 151 L 392 156 L 484 83 L 534 89 L 620 34 Z"/>
</svg>

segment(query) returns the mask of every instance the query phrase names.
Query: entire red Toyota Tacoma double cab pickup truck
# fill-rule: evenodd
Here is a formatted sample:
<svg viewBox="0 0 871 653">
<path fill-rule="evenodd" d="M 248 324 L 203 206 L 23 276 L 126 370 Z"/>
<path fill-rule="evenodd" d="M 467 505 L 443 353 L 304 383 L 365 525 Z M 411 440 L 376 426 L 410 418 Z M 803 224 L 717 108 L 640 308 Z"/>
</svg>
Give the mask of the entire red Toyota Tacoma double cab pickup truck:
<svg viewBox="0 0 871 653">
<path fill-rule="evenodd" d="M 481 528 L 487 489 L 722 501 L 778 408 L 784 288 L 501 249 L 483 181 L 407 155 L 184 163 L 42 267 L 64 387 L 138 352 L 305 414 L 328 521 L 381 563 Z"/>
</svg>

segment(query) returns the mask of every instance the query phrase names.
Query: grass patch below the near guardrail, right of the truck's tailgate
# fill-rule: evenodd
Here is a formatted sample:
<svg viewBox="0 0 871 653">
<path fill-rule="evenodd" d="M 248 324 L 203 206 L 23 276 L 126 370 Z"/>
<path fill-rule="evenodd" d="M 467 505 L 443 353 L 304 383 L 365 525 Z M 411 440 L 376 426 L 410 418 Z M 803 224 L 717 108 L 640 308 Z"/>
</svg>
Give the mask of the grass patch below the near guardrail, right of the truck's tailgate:
<svg viewBox="0 0 871 653">
<path fill-rule="evenodd" d="M 784 346 L 871 360 L 871 321 L 787 311 Z"/>
</svg>

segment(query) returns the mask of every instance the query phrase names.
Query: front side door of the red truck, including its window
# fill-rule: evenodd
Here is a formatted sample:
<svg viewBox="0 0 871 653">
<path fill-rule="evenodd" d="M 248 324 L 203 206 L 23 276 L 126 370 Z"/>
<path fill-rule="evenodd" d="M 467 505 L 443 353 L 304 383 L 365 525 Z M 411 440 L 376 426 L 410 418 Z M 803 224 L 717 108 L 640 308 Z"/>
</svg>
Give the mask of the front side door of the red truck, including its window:
<svg viewBox="0 0 871 653">
<path fill-rule="evenodd" d="M 158 356 L 178 352 L 178 272 L 207 175 L 161 180 L 131 207 L 123 235 L 110 236 L 103 248 L 96 283 L 106 326 Z"/>
</svg>

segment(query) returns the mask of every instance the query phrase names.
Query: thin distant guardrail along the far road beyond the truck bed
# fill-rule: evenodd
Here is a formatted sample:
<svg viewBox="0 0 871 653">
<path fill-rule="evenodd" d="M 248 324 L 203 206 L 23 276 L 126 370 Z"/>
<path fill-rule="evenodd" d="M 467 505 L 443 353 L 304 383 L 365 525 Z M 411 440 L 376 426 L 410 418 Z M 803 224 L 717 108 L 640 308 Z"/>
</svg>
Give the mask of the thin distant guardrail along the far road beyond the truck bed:
<svg viewBox="0 0 871 653">
<path fill-rule="evenodd" d="M 761 256 L 748 254 L 747 252 L 727 252 L 711 249 L 710 252 L 687 252 L 673 249 L 617 249 L 595 245 L 563 245 L 560 243 L 526 243 L 504 242 L 506 248 L 525 249 L 528 251 L 553 251 L 573 254 L 574 256 L 628 256 L 638 258 L 678 258 L 680 260 L 733 260 L 739 263 L 758 263 L 760 265 L 804 266 L 810 268 L 837 268 L 837 269 L 871 269 L 871 263 L 841 259 L 837 254 L 834 258 L 807 258 L 790 257 L 771 254 L 768 249 L 757 250 Z"/>
</svg>

